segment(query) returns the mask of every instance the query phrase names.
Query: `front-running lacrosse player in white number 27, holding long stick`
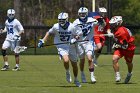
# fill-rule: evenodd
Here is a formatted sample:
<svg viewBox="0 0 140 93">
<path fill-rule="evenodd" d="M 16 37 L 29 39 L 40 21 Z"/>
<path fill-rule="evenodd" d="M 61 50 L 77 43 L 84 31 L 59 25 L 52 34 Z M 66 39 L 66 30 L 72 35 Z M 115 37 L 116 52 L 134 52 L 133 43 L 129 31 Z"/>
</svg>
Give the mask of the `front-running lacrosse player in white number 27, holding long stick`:
<svg viewBox="0 0 140 93">
<path fill-rule="evenodd" d="M 39 40 L 38 47 L 43 47 L 45 41 L 47 41 L 50 35 L 54 35 L 54 44 L 65 43 L 56 45 L 58 54 L 64 62 L 64 68 L 66 70 L 66 80 L 72 82 L 70 70 L 69 70 L 69 60 L 71 61 L 74 74 L 74 83 L 77 87 L 81 87 L 80 82 L 77 79 L 78 67 L 77 67 L 77 54 L 73 52 L 73 45 L 76 40 L 82 35 L 81 29 L 75 27 L 72 23 L 68 21 L 68 13 L 60 13 L 58 15 L 58 23 L 54 24 L 53 27 L 46 33 L 43 39 Z"/>
</svg>

